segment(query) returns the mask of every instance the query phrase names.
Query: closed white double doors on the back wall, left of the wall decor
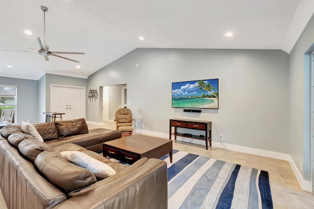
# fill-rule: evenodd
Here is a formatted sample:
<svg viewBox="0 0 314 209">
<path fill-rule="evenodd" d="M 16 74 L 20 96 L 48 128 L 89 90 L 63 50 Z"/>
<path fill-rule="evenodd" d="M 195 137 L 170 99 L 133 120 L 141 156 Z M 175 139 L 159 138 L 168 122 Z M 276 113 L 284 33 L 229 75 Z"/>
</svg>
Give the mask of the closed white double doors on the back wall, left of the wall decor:
<svg viewBox="0 0 314 209">
<path fill-rule="evenodd" d="M 63 120 L 85 117 L 85 88 L 51 86 L 50 112 L 65 113 Z"/>
</svg>

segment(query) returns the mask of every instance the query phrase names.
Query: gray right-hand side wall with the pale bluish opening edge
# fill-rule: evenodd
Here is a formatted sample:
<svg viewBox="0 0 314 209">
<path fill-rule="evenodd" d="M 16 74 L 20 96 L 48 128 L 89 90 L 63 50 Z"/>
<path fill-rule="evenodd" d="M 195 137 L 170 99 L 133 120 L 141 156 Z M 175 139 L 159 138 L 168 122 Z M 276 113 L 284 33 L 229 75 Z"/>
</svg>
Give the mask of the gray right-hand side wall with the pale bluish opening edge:
<svg viewBox="0 0 314 209">
<path fill-rule="evenodd" d="M 311 52 L 314 51 L 314 18 L 289 55 L 289 154 L 303 179 L 311 181 Z"/>
</svg>

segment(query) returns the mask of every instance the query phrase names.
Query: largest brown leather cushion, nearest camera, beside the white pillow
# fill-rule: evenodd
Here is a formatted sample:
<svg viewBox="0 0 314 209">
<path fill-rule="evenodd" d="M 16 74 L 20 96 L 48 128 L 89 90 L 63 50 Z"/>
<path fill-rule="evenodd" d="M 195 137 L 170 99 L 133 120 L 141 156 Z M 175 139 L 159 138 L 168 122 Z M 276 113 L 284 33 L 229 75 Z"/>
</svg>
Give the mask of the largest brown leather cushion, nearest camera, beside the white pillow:
<svg viewBox="0 0 314 209">
<path fill-rule="evenodd" d="M 84 188 L 97 182 L 92 172 L 69 162 L 60 154 L 50 150 L 40 153 L 35 159 L 35 165 L 52 184 L 66 192 Z"/>
</svg>

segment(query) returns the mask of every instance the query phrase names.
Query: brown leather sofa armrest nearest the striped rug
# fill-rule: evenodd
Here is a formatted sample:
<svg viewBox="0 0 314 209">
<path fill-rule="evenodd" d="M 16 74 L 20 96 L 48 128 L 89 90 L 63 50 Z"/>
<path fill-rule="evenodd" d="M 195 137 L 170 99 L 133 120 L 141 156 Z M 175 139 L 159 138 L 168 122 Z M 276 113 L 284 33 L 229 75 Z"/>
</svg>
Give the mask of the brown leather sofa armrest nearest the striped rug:
<svg viewBox="0 0 314 209">
<path fill-rule="evenodd" d="M 167 189 L 167 164 L 149 159 L 131 173 L 69 198 L 53 209 L 167 209 Z"/>
</svg>

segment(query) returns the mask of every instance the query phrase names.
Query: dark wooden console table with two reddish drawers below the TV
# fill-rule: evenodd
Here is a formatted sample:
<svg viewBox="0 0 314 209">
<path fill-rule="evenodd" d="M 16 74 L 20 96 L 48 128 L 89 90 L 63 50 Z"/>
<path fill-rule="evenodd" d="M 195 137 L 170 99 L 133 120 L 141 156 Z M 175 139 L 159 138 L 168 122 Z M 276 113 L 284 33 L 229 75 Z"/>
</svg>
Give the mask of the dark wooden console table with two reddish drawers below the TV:
<svg viewBox="0 0 314 209">
<path fill-rule="evenodd" d="M 206 149 L 208 149 L 208 140 L 209 146 L 211 147 L 211 121 L 203 121 L 203 120 L 187 120 L 187 119 L 179 119 L 173 118 L 170 119 L 170 130 L 169 130 L 169 139 L 171 140 L 171 136 L 175 136 L 175 140 L 177 136 L 186 137 L 186 138 L 193 138 L 193 139 L 201 139 L 206 141 Z M 175 132 L 172 133 L 172 127 L 175 128 Z M 187 129 L 194 129 L 194 130 L 201 130 L 205 131 L 205 136 L 201 137 L 198 135 L 192 136 L 183 136 L 182 133 L 177 132 L 177 128 L 187 128 Z"/>
</svg>

